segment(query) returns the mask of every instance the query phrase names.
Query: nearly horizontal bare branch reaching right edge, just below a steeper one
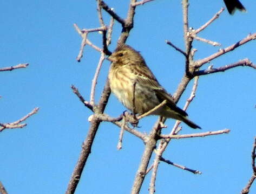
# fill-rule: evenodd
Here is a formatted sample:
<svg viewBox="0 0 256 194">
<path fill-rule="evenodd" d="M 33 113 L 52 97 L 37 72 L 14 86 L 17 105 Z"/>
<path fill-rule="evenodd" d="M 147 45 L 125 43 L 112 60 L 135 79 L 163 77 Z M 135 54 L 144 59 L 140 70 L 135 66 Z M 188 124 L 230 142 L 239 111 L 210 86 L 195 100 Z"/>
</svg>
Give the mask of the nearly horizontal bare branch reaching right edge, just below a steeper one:
<svg viewBox="0 0 256 194">
<path fill-rule="evenodd" d="M 225 65 L 219 68 L 207 68 L 206 70 L 199 70 L 194 72 L 195 76 L 199 76 L 199 75 L 207 75 L 207 74 L 211 74 L 211 73 L 218 73 L 218 72 L 224 72 L 226 70 L 229 70 L 231 68 L 235 68 L 238 66 L 247 66 L 247 67 L 252 67 L 256 70 L 256 65 L 253 64 L 249 59 L 243 59 L 238 61 L 237 63 L 234 64 L 230 64 L 230 65 Z"/>
</svg>

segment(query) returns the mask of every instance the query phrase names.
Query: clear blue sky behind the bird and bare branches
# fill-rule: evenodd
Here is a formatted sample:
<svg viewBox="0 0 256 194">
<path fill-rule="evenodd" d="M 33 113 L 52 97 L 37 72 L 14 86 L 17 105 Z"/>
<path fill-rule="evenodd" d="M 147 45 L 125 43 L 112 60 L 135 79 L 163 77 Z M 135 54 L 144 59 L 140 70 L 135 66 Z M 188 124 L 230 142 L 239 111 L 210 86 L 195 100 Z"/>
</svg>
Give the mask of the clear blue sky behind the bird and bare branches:
<svg viewBox="0 0 256 194">
<path fill-rule="evenodd" d="M 256 32 L 256 4 L 241 0 L 247 13 L 227 11 L 200 37 L 218 41 L 221 48 L 231 45 L 249 33 Z M 129 1 L 106 1 L 122 17 Z M 190 26 L 204 24 L 221 6 L 218 1 L 191 1 Z M 81 38 L 73 24 L 81 28 L 99 27 L 95 1 L 1 1 L 0 2 L 0 67 L 29 63 L 25 69 L 1 72 L 0 122 L 13 122 L 34 107 L 40 111 L 26 121 L 23 129 L 7 129 L 0 134 L 0 181 L 9 193 L 64 193 L 71 172 L 86 137 L 91 115 L 70 89 L 74 84 L 89 100 L 91 80 L 100 54 L 89 46 L 81 63 L 75 58 Z M 108 23 L 108 15 L 106 23 Z M 159 82 L 174 93 L 184 72 L 180 53 L 165 44 L 172 41 L 184 48 L 181 1 L 156 0 L 136 10 L 134 29 L 127 44 L 146 59 Z M 110 50 L 116 46 L 120 24 L 115 23 Z M 101 46 L 101 35 L 89 34 Z M 218 51 L 195 41 L 201 59 Z M 256 42 L 211 62 L 219 67 L 244 58 L 256 63 Z M 105 61 L 96 88 L 96 100 L 107 78 L 109 61 Z M 204 66 L 207 68 L 207 65 Z M 183 134 L 208 130 L 231 129 L 230 134 L 204 138 L 174 140 L 163 155 L 202 175 L 160 165 L 156 193 L 240 193 L 251 177 L 251 149 L 256 134 L 256 70 L 238 67 L 225 73 L 211 74 L 199 79 L 198 92 L 188 109 L 189 117 L 202 130 L 182 124 Z M 179 101 L 183 106 L 191 85 Z M 106 113 L 120 115 L 125 108 L 114 96 L 110 97 Z M 148 132 L 157 119 L 150 116 L 140 122 L 139 130 Z M 169 133 L 174 121 L 168 120 Z M 76 193 L 129 193 L 140 162 L 143 143 L 124 134 L 123 149 L 116 150 L 119 128 L 102 123 L 92 153 Z M 143 184 L 147 193 L 149 178 Z M 251 193 L 256 192 L 256 185 Z"/>
</svg>

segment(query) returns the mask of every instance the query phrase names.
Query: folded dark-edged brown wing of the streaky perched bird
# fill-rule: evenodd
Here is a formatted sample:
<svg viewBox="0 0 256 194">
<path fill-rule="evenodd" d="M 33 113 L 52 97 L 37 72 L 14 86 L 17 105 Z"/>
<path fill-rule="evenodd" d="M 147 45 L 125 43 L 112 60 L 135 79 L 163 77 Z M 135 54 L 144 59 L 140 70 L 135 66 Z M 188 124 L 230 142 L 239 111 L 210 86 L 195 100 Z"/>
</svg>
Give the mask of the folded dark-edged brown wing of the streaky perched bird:
<svg viewBox="0 0 256 194">
<path fill-rule="evenodd" d="M 166 105 L 170 109 L 180 113 L 182 116 L 188 115 L 184 110 L 182 110 L 181 108 L 176 106 L 172 97 L 159 84 L 159 82 L 156 80 L 154 74 L 149 70 L 149 68 L 147 66 L 140 65 L 137 68 L 137 66 L 133 65 L 132 73 L 135 75 L 136 81 L 139 82 L 141 85 L 143 85 L 144 87 L 149 87 L 149 88 L 154 89 L 156 96 L 160 101 L 167 100 Z"/>
</svg>

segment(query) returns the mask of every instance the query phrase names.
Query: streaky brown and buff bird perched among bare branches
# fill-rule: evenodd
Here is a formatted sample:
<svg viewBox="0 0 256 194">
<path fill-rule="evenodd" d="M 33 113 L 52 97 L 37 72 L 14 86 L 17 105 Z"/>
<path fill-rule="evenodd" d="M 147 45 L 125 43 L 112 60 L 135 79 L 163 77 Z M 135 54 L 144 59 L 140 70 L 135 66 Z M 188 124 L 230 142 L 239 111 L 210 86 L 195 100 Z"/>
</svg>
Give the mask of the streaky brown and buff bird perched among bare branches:
<svg viewBox="0 0 256 194">
<path fill-rule="evenodd" d="M 187 118 L 188 114 L 184 110 L 176 106 L 172 96 L 159 84 L 139 52 L 123 44 L 117 47 L 108 60 L 112 62 L 108 74 L 111 91 L 134 114 L 146 113 L 166 100 L 166 105 L 155 110 L 152 115 L 177 119 L 189 127 L 201 129 Z"/>
</svg>

